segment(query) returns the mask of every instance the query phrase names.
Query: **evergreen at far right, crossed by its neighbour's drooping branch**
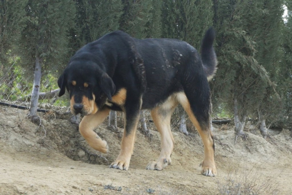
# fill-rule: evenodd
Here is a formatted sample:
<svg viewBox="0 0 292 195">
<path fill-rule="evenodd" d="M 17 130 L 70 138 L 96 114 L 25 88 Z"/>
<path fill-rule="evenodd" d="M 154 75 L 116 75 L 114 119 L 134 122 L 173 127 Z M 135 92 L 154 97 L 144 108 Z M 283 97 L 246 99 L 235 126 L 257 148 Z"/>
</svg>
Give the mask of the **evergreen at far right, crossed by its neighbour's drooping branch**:
<svg viewBox="0 0 292 195">
<path fill-rule="evenodd" d="M 263 0 L 263 14 L 257 18 L 256 25 L 251 28 L 251 34 L 256 41 L 256 60 L 262 65 L 271 80 L 277 83 L 280 61 L 283 57 L 281 50 L 281 36 L 283 29 L 283 1 Z M 259 119 L 260 131 L 263 137 L 267 136 L 266 119 L 274 122 L 279 119 L 282 104 L 278 94 L 274 91 L 274 86 L 255 76 L 258 83 L 250 90 L 249 101 L 254 104 Z M 278 87 L 276 89 L 278 90 Z"/>
</svg>

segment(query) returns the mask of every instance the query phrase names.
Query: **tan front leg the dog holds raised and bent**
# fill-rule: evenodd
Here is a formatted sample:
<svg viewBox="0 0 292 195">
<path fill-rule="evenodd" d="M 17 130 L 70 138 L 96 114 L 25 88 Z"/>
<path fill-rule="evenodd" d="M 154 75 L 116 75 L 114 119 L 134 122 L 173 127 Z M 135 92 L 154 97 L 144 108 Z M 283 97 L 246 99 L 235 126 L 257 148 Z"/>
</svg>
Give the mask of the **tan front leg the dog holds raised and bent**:
<svg viewBox="0 0 292 195">
<path fill-rule="evenodd" d="M 82 118 L 79 125 L 79 132 L 85 138 L 87 143 L 97 151 L 107 153 L 109 150 L 108 143 L 102 140 L 93 129 L 100 125 L 109 115 L 110 109 L 105 108 L 99 110 L 95 114 L 88 115 Z"/>
</svg>

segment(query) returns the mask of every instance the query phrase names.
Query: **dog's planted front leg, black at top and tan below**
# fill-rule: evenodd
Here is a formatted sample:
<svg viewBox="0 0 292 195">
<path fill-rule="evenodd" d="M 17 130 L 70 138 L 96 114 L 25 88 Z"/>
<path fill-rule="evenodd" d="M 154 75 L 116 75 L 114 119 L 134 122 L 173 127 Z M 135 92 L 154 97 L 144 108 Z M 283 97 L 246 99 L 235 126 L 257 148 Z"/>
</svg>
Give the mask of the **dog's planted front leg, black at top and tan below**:
<svg viewBox="0 0 292 195">
<path fill-rule="evenodd" d="M 110 168 L 128 170 L 133 154 L 135 134 L 139 121 L 140 103 L 125 105 L 125 128 L 121 143 L 121 151 L 117 159 L 111 163 Z"/>
</svg>

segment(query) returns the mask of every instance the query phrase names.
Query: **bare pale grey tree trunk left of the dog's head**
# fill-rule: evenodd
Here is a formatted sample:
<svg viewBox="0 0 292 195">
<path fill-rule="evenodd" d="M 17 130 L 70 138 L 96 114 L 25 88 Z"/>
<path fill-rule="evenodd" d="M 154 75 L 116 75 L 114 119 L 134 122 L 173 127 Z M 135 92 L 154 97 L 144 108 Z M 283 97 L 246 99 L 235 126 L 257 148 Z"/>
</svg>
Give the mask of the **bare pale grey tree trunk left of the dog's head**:
<svg viewBox="0 0 292 195">
<path fill-rule="evenodd" d="M 41 59 L 36 55 L 36 64 L 35 64 L 35 72 L 34 72 L 34 85 L 33 85 L 33 92 L 32 98 L 30 101 L 28 117 L 35 117 L 37 116 L 37 104 L 38 104 L 38 96 L 39 96 L 39 89 L 40 89 L 40 79 L 41 79 Z"/>
</svg>

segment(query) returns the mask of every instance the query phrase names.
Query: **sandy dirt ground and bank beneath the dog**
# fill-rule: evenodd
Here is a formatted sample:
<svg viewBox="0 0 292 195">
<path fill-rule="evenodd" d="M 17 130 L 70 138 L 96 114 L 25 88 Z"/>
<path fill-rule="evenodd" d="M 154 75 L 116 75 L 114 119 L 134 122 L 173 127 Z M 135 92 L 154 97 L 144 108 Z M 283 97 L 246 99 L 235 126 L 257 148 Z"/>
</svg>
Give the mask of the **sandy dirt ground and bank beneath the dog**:
<svg viewBox="0 0 292 195">
<path fill-rule="evenodd" d="M 201 138 L 173 131 L 172 164 L 163 171 L 146 170 L 160 153 L 160 136 L 137 131 L 128 171 L 109 169 L 118 156 L 122 129 L 106 124 L 96 129 L 109 143 L 109 154 L 92 150 L 68 117 L 40 115 L 41 125 L 27 112 L 0 107 L 0 195 L 217 195 L 292 194 L 292 137 L 270 130 L 264 139 L 252 126 L 247 138 L 233 127 L 214 126 L 218 176 L 200 174 Z M 152 124 L 149 124 L 151 126 Z M 235 143 L 236 142 L 236 143 Z M 234 193 L 236 194 L 236 193 Z"/>
</svg>

